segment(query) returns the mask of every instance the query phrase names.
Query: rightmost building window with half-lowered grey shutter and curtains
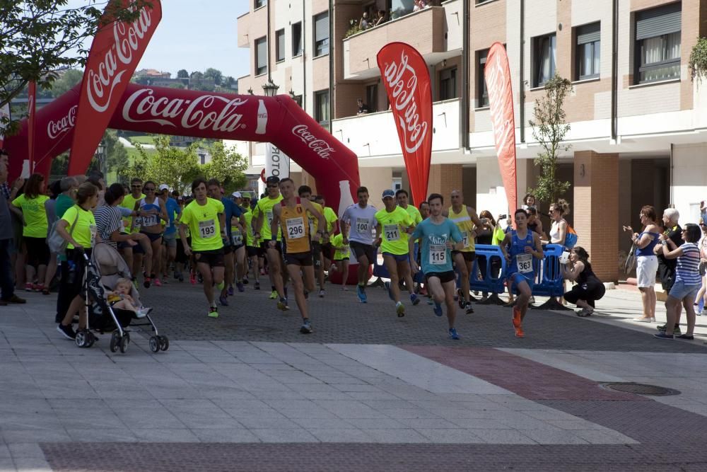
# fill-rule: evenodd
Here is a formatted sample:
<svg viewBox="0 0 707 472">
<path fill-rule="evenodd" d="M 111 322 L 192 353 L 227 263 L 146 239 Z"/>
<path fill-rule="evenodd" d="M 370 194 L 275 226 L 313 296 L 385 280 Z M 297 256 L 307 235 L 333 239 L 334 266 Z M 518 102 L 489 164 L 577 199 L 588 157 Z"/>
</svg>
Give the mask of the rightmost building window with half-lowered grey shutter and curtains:
<svg viewBox="0 0 707 472">
<path fill-rule="evenodd" d="M 636 13 L 636 84 L 680 77 L 681 4 Z"/>
</svg>

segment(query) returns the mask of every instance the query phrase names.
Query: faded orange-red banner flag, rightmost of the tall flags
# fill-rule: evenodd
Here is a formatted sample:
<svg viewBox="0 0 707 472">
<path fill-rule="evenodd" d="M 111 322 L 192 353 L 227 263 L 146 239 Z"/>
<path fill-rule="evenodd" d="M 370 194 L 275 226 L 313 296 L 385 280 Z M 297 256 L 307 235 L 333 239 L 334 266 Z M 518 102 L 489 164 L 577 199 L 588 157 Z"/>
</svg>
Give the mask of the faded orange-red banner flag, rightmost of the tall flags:
<svg viewBox="0 0 707 472">
<path fill-rule="evenodd" d="M 486 88 L 489 90 L 491 125 L 496 141 L 498 167 L 501 169 L 503 188 L 506 189 L 508 211 L 518 208 L 518 183 L 515 174 L 515 117 L 513 116 L 513 90 L 510 87 L 510 69 L 506 48 L 494 42 L 486 57 L 484 68 Z"/>
</svg>

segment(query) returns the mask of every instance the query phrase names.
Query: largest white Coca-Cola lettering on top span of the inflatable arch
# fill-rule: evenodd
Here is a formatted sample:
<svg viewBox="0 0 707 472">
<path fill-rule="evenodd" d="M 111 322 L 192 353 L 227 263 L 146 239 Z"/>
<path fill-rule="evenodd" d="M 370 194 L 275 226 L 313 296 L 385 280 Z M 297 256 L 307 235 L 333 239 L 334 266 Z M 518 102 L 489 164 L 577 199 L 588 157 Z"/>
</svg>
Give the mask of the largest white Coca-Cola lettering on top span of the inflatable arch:
<svg viewBox="0 0 707 472">
<path fill-rule="evenodd" d="M 132 123 L 154 122 L 163 126 L 185 129 L 210 129 L 215 132 L 233 132 L 243 118 L 236 113 L 248 100 L 202 95 L 191 100 L 183 98 L 155 98 L 151 88 L 140 88 L 125 100 L 123 119 Z M 188 105 L 187 105 L 188 103 Z"/>
</svg>

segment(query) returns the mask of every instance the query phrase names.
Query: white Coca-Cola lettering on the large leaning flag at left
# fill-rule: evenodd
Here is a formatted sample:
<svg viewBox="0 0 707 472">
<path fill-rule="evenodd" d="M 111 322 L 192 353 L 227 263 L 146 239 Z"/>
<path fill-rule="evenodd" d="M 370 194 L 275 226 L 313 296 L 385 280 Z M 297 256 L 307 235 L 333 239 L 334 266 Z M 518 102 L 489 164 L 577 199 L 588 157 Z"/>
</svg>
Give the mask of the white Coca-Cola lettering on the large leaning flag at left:
<svg viewBox="0 0 707 472">
<path fill-rule="evenodd" d="M 86 71 L 86 96 L 88 103 L 98 113 L 108 109 L 113 90 L 120 84 L 125 71 L 132 64 L 133 52 L 141 47 L 140 40 L 145 37 L 151 24 L 151 8 L 147 6 L 141 8 L 134 22 L 113 23 L 114 45 L 107 50 L 103 62 L 100 62 L 95 70 Z"/>
</svg>

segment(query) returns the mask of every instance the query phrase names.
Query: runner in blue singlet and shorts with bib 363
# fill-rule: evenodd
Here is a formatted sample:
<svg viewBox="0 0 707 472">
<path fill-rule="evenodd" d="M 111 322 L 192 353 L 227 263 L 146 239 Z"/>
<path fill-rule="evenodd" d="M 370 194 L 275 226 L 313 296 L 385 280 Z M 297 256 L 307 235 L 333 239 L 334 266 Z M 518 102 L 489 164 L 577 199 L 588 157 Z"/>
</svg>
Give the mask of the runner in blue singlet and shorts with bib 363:
<svg viewBox="0 0 707 472">
<path fill-rule="evenodd" d="M 506 233 L 506 237 L 501 242 L 501 251 L 508 261 L 508 287 L 509 292 L 515 287 L 518 291 L 518 301 L 513 306 L 513 328 L 515 337 L 523 338 L 522 321 L 528 309 L 528 302 L 532 297 L 532 286 L 535 277 L 533 270 L 533 258 L 542 259 L 542 243 L 540 236 L 527 227 L 528 214 L 524 209 L 515 210 L 516 229 L 511 229 Z M 510 246 L 510 253 L 506 251 L 506 246 Z"/>
</svg>

